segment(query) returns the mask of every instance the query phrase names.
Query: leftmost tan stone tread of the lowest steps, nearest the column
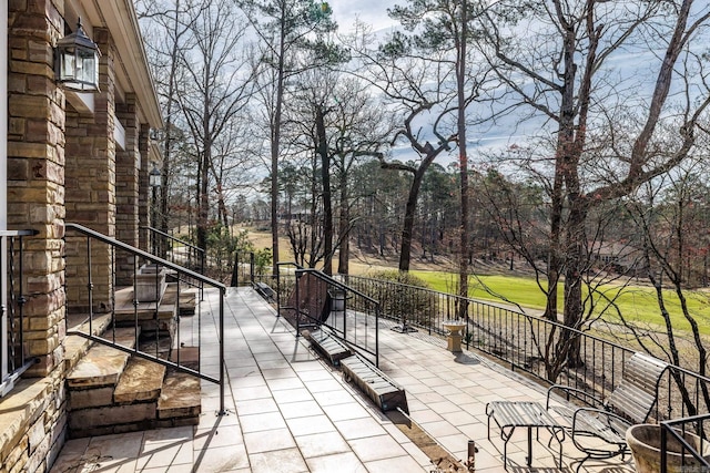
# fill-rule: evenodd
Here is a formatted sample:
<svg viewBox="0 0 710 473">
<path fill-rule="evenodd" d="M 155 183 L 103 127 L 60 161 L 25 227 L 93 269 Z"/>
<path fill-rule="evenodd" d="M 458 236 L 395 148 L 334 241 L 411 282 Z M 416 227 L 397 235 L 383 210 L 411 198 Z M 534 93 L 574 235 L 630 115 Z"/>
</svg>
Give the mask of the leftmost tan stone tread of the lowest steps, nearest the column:
<svg viewBox="0 0 710 473">
<path fill-rule="evenodd" d="M 112 331 L 104 333 L 112 339 Z M 116 328 L 115 342 L 126 348 L 135 347 L 133 328 Z M 104 345 L 95 343 L 67 377 L 70 389 L 97 389 L 114 387 L 128 363 L 130 354 Z"/>
</svg>

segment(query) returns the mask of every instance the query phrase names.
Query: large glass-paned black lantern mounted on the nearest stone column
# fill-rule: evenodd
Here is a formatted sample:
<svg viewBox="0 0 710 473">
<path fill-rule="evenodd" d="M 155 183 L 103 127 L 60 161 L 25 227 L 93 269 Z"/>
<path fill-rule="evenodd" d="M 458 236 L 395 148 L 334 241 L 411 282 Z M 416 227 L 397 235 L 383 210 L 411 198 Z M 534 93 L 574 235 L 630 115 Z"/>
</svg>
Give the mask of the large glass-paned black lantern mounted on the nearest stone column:
<svg viewBox="0 0 710 473">
<path fill-rule="evenodd" d="M 57 83 L 79 92 L 99 91 L 99 58 L 101 51 L 84 32 L 81 20 L 77 31 L 57 41 L 54 74 Z"/>
</svg>

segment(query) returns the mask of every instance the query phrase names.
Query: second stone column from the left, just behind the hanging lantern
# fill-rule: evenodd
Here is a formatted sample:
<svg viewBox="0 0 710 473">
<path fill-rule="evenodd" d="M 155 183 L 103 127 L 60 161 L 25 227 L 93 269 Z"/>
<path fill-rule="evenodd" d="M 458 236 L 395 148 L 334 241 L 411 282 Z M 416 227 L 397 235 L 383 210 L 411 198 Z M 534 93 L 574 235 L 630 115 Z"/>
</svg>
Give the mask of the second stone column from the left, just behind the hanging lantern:
<svg viewBox="0 0 710 473">
<path fill-rule="evenodd" d="M 93 40 L 101 50 L 100 92 L 94 93 L 93 113 L 67 107 L 67 222 L 115 237 L 114 44 L 109 31 L 102 28 L 93 29 Z M 83 237 L 78 238 L 72 233 L 68 235 L 67 245 L 69 310 L 89 309 L 90 282 L 93 310 L 111 310 L 112 279 L 116 269 L 111 248 L 93 241 L 89 263 Z"/>
</svg>

